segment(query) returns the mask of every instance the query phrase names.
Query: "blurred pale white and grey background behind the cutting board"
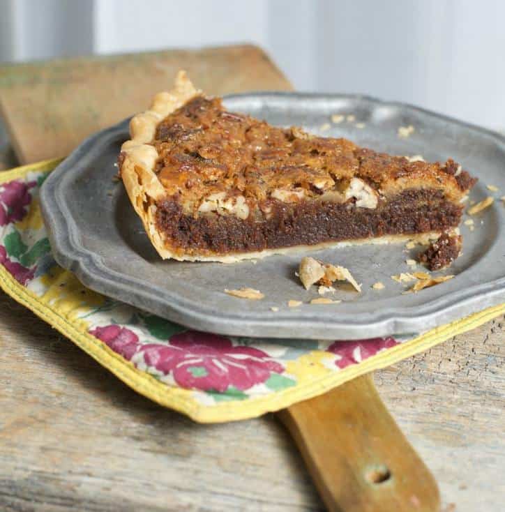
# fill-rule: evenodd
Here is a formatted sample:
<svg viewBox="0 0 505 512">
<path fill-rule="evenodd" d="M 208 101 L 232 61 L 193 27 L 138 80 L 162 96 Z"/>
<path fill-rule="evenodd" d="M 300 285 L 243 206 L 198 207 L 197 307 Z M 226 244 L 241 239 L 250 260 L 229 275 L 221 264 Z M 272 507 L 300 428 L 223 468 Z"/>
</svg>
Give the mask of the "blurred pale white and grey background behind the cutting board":
<svg viewBox="0 0 505 512">
<path fill-rule="evenodd" d="M 499 0 L 0 0 L 0 61 L 252 42 L 298 89 L 505 126 Z"/>
</svg>

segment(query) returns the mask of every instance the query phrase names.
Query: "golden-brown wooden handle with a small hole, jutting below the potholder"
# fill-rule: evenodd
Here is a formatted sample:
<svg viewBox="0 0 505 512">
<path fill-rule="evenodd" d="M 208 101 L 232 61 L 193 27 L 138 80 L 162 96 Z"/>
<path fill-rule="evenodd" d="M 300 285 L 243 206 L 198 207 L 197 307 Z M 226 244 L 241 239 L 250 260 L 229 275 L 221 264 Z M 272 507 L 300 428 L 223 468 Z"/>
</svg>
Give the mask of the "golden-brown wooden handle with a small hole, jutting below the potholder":
<svg viewBox="0 0 505 512">
<path fill-rule="evenodd" d="M 437 483 L 364 375 L 280 414 L 331 512 L 437 512 Z"/>
</svg>

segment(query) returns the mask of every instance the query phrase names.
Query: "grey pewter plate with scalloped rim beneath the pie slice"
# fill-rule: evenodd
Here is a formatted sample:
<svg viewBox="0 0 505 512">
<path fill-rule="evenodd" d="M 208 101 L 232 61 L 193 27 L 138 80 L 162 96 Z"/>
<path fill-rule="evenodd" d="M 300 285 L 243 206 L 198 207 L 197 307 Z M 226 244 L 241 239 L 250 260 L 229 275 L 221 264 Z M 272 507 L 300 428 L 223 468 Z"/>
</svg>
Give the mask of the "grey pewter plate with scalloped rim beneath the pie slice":
<svg viewBox="0 0 505 512">
<path fill-rule="evenodd" d="M 505 302 L 505 207 L 499 200 L 505 194 L 504 137 L 365 96 L 257 93 L 229 96 L 225 104 L 274 125 L 348 137 L 378 151 L 421 154 L 426 160 L 451 157 L 462 163 L 480 180 L 470 200 L 494 195 L 495 203 L 473 217 L 473 232 L 462 225 L 462 256 L 450 269 L 455 278 L 417 294 L 402 294 L 408 285 L 390 276 L 410 270 L 405 259 L 414 253 L 405 253 L 405 246 L 322 250 L 317 257 L 347 266 L 363 283 L 363 293 L 339 289 L 334 298 L 342 303 L 315 306 L 308 301 L 317 296 L 316 287 L 306 292 L 294 275 L 301 255 L 239 264 L 162 261 L 122 184 L 113 182 L 128 120 L 89 137 L 45 181 L 41 204 L 56 261 L 87 287 L 114 299 L 194 329 L 239 336 L 351 339 L 406 334 Z M 331 123 L 331 114 L 352 114 L 355 120 Z M 409 125 L 414 133 L 398 137 L 398 127 Z M 487 185 L 500 192 L 490 192 Z M 371 289 L 377 281 L 386 288 Z M 259 289 L 265 298 L 248 301 L 223 292 L 240 287 Z M 288 308 L 289 299 L 304 304 Z M 273 306 L 279 310 L 273 312 Z"/>
</svg>

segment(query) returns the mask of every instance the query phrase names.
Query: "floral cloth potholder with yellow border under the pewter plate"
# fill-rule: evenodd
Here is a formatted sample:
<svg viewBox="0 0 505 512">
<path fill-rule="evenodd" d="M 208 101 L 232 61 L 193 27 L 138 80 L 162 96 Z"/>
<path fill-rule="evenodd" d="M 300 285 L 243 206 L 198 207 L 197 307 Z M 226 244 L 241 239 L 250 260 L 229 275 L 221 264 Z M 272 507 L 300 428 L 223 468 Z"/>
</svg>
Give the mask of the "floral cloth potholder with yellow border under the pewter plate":
<svg viewBox="0 0 505 512">
<path fill-rule="evenodd" d="M 59 160 L 0 174 L 0 286 L 135 391 L 195 421 L 276 411 L 405 359 L 505 312 L 412 336 L 238 338 L 193 331 L 84 287 L 51 255 L 38 191 Z"/>
</svg>

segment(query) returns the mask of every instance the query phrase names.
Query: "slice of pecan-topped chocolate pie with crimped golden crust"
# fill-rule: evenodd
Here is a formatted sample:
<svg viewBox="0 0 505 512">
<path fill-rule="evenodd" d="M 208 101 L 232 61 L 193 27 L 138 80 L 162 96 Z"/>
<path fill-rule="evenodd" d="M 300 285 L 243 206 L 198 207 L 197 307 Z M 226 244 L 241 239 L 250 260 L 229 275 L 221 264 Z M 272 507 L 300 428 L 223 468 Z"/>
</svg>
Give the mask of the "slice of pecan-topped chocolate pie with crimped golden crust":
<svg viewBox="0 0 505 512">
<path fill-rule="evenodd" d="M 476 181 L 453 160 L 410 161 L 227 112 L 182 71 L 130 135 L 121 177 L 163 258 L 436 237 L 458 226 Z"/>
</svg>

